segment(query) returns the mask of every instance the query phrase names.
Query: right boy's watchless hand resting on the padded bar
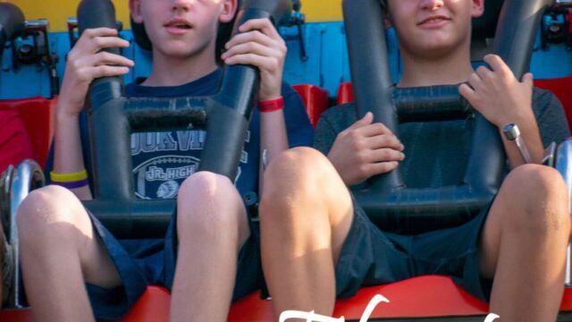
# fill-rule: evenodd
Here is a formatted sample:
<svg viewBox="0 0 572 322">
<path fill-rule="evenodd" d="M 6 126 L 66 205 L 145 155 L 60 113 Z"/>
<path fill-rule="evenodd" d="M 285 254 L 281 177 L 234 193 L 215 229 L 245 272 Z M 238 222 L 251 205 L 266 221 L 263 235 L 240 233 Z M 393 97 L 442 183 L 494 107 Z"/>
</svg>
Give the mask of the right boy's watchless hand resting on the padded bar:
<svg viewBox="0 0 572 322">
<path fill-rule="evenodd" d="M 341 131 L 328 158 L 348 186 L 364 182 L 397 167 L 405 158 L 403 144 L 382 123 L 372 123 L 374 114 Z"/>
</svg>

